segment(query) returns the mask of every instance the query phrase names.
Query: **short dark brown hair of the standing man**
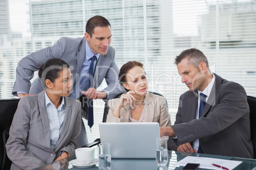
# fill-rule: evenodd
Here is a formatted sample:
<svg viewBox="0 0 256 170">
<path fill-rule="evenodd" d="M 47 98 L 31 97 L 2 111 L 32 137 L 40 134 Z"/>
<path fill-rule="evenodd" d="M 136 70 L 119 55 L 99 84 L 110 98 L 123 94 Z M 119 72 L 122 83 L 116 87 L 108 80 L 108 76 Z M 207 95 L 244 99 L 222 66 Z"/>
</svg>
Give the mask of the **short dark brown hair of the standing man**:
<svg viewBox="0 0 256 170">
<path fill-rule="evenodd" d="M 108 27 L 110 25 L 110 22 L 106 18 L 100 15 L 93 16 L 90 18 L 85 26 L 85 32 L 87 32 L 90 36 L 94 34 L 94 28 L 95 27 Z"/>
</svg>

